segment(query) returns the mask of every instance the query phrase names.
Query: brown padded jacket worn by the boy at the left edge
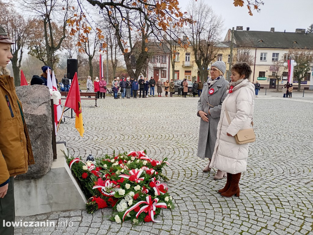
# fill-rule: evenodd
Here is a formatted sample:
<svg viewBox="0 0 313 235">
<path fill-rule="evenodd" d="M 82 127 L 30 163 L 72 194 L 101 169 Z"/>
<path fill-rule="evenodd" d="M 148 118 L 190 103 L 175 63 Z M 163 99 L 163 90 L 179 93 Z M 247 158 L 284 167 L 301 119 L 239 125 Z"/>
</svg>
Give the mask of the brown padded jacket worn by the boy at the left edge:
<svg viewBox="0 0 313 235">
<path fill-rule="evenodd" d="M 0 184 L 10 176 L 26 173 L 34 164 L 21 101 L 13 77 L 0 67 Z"/>
</svg>

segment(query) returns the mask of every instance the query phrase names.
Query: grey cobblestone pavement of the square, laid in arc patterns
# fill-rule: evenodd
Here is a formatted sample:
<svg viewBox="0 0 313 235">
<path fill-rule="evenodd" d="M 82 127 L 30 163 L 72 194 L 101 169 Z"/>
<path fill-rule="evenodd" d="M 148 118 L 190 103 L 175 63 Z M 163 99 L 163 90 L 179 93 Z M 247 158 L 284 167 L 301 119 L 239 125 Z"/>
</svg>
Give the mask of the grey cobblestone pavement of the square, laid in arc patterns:
<svg viewBox="0 0 313 235">
<path fill-rule="evenodd" d="M 161 223 L 121 225 L 108 220 L 111 209 L 93 215 L 78 210 L 16 218 L 69 220 L 74 223 L 67 227 L 70 232 L 24 228 L 16 234 L 313 234 L 313 104 L 256 99 L 257 141 L 250 146 L 240 197 L 223 198 L 217 190 L 226 179 L 214 181 L 215 170 L 203 173 L 207 161 L 196 156 L 197 101 L 102 99 L 95 108 L 92 101 L 83 100 L 84 138 L 75 130 L 74 119 L 58 132 L 58 140 L 65 140 L 74 156 L 146 149 L 152 158 L 168 157 L 171 168 L 165 169 L 176 208 L 162 210 Z"/>
</svg>

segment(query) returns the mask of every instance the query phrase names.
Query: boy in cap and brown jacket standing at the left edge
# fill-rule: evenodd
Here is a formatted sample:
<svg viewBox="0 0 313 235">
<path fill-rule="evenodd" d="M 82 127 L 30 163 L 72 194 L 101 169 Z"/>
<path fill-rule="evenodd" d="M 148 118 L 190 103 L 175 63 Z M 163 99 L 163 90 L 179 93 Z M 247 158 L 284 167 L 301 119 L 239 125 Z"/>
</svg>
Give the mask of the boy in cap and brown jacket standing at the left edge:
<svg viewBox="0 0 313 235">
<path fill-rule="evenodd" d="M 14 178 L 35 163 L 23 106 L 15 93 L 14 78 L 6 68 L 13 58 L 12 44 L 0 26 L 0 234 L 3 235 L 14 234 L 13 226 L 2 225 L 3 221 L 15 221 Z M 27 195 L 23 198 L 28 201 Z"/>
</svg>

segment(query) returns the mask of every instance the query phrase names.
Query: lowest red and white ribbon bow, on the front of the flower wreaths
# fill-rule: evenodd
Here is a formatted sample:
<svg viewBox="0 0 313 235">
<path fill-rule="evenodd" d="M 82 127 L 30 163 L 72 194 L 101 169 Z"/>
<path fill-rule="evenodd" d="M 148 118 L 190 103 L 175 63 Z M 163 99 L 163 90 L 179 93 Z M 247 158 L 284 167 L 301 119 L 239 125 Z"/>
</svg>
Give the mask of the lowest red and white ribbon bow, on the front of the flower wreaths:
<svg viewBox="0 0 313 235">
<path fill-rule="evenodd" d="M 126 210 L 126 212 L 123 215 L 123 221 L 124 221 L 125 216 L 129 212 L 131 212 L 133 209 L 135 209 L 137 206 L 139 206 L 141 204 L 146 204 L 145 206 L 140 208 L 140 210 L 136 214 L 136 218 L 138 218 L 138 216 L 142 212 L 146 212 L 146 213 L 148 213 L 148 216 L 151 217 L 151 220 L 153 222 L 156 222 L 156 223 L 161 222 L 161 221 L 154 220 L 154 214 L 155 214 L 156 208 L 167 208 L 167 204 L 166 203 L 158 203 L 158 201 L 159 201 L 159 198 L 155 198 L 152 200 L 150 195 L 146 196 L 146 201 L 140 201 L 140 202 L 136 203 L 135 205 L 133 205 L 128 210 Z"/>
</svg>

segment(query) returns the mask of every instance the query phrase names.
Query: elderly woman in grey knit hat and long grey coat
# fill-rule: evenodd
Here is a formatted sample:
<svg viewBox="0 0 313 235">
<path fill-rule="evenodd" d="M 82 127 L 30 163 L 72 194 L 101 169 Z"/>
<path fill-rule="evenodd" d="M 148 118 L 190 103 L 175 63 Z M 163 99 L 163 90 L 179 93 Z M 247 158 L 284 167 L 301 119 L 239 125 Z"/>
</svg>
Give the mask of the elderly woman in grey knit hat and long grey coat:
<svg viewBox="0 0 313 235">
<path fill-rule="evenodd" d="M 223 75 L 226 72 L 226 65 L 223 61 L 216 61 L 212 64 L 209 79 L 203 84 L 203 91 L 198 100 L 198 113 L 200 119 L 200 130 L 198 140 L 198 157 L 208 158 L 209 163 L 203 169 L 203 172 L 211 170 L 210 162 L 214 152 L 214 147 L 217 139 L 217 126 L 221 114 L 222 103 L 227 96 L 228 81 Z M 223 179 L 226 173 L 220 170 L 217 171 L 214 179 Z"/>
</svg>

